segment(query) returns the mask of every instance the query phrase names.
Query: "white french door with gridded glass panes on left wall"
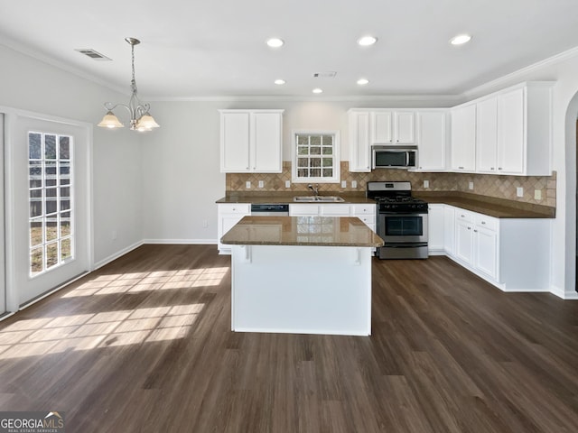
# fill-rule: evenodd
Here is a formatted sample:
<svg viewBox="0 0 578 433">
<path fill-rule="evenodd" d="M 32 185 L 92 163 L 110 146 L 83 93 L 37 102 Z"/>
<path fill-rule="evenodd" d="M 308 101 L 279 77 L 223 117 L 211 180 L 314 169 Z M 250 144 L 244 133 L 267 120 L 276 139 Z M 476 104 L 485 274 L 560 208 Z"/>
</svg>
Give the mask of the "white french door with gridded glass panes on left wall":
<svg viewBox="0 0 578 433">
<path fill-rule="evenodd" d="M 6 299 L 14 311 L 90 270 L 90 127 L 6 117 Z"/>
</svg>

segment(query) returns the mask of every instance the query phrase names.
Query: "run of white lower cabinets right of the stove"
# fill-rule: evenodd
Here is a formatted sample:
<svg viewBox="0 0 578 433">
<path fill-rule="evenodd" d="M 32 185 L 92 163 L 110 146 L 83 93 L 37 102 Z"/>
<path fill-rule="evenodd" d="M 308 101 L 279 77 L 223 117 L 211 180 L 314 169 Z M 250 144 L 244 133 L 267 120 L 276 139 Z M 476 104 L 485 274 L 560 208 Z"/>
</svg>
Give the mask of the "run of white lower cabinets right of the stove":
<svg viewBox="0 0 578 433">
<path fill-rule="evenodd" d="M 434 211 L 433 246 L 443 236 L 448 257 L 501 290 L 550 291 L 550 219 L 495 218 L 439 206 L 443 206 L 443 224 Z"/>
</svg>

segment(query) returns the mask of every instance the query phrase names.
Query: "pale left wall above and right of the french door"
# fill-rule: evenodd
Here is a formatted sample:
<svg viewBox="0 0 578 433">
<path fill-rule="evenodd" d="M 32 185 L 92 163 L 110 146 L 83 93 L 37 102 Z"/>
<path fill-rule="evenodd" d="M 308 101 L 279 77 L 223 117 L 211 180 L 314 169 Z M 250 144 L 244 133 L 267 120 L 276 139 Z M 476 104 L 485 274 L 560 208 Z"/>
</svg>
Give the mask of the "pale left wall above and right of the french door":
<svg viewBox="0 0 578 433">
<path fill-rule="evenodd" d="M 90 60 L 87 60 L 90 61 Z M 128 97 L 0 44 L 0 106 L 98 123 L 106 101 Z M 93 141 L 96 263 L 142 240 L 139 137 L 95 127 Z M 111 239 L 112 231 L 117 239 Z M 4 246 L 4 245 L 3 245 Z"/>
</svg>

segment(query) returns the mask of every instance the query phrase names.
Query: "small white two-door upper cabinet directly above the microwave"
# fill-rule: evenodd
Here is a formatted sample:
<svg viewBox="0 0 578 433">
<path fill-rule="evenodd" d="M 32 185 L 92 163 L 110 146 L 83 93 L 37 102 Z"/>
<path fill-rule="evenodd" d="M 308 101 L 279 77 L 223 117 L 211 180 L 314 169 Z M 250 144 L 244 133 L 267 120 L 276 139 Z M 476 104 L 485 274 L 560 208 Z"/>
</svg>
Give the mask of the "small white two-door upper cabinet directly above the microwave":
<svg viewBox="0 0 578 433">
<path fill-rule="evenodd" d="M 413 111 L 372 111 L 371 144 L 414 144 Z"/>
</svg>

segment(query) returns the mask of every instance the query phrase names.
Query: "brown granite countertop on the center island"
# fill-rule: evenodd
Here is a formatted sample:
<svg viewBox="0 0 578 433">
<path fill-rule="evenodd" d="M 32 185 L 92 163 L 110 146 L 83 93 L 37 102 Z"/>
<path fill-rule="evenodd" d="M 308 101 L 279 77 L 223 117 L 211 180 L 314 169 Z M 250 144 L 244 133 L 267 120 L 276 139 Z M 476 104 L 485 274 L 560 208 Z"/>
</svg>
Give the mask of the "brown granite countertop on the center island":
<svg viewBox="0 0 578 433">
<path fill-rule="evenodd" d="M 383 240 L 357 217 L 243 217 L 222 244 L 378 247 Z"/>
</svg>

